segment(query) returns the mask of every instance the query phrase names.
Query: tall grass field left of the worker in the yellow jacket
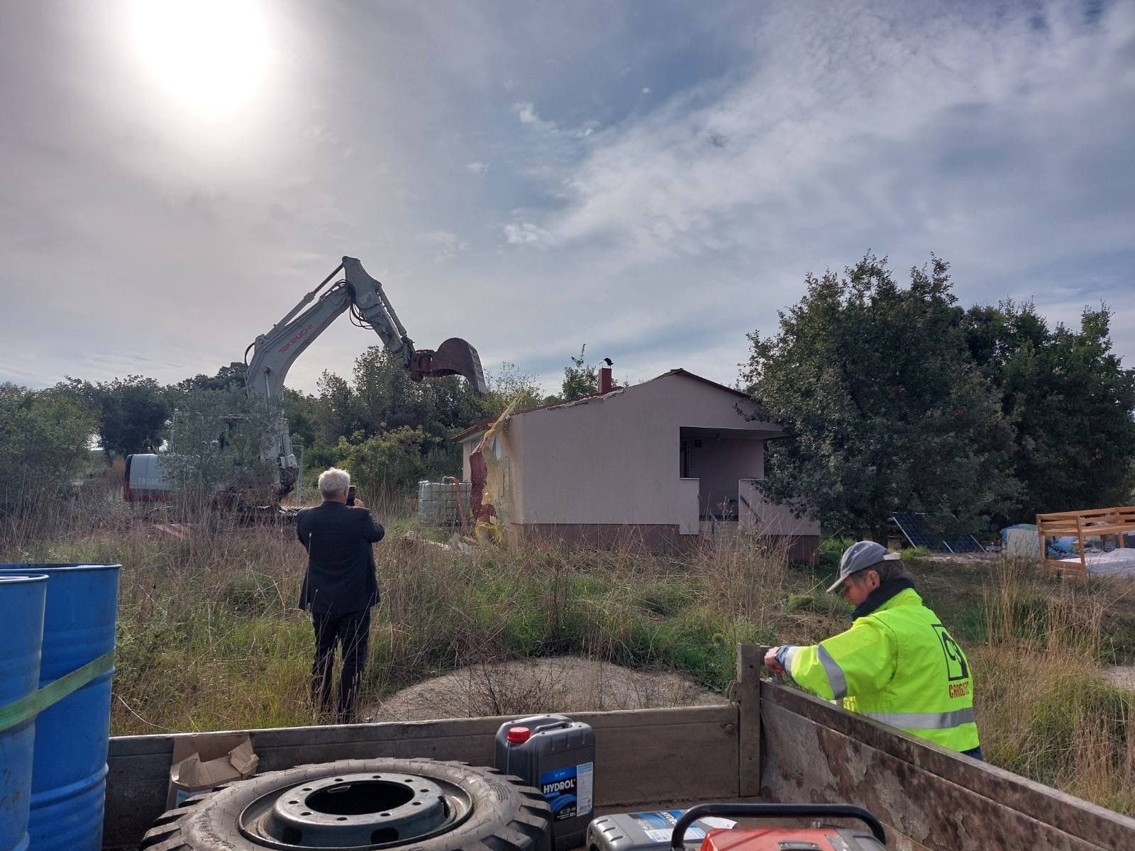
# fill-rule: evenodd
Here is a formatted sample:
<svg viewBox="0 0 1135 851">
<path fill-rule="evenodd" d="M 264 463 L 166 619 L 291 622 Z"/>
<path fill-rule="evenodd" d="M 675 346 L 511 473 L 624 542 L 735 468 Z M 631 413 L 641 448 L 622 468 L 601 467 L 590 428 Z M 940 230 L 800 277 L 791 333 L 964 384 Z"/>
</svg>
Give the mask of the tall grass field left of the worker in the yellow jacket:
<svg viewBox="0 0 1135 851">
<path fill-rule="evenodd" d="M 108 479 L 0 537 L 5 561 L 123 565 L 114 732 L 319 721 L 306 697 L 312 638 L 295 609 L 305 554 L 294 529 L 208 512 L 170 525 L 160 508 L 123 504 L 117 487 Z M 404 503 L 368 503 L 394 520 L 376 548 L 382 599 L 363 705 L 455 668 L 566 654 L 678 668 L 722 690 L 737 641 L 772 637 L 787 567 L 753 542 L 684 559 L 631 546 L 457 554 L 406 540 Z M 770 579 L 755 581 L 762 573 Z"/>
</svg>

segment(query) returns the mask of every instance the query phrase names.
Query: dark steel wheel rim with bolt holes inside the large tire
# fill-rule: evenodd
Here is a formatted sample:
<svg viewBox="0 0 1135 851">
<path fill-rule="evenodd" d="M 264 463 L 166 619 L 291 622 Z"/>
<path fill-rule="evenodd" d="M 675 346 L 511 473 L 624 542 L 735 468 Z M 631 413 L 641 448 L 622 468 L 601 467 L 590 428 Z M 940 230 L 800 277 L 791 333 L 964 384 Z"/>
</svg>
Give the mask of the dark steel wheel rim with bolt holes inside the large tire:
<svg viewBox="0 0 1135 851">
<path fill-rule="evenodd" d="M 245 839 L 263 848 L 384 849 L 453 829 L 472 811 L 460 786 L 413 774 L 342 774 L 258 798 L 241 812 Z"/>
</svg>

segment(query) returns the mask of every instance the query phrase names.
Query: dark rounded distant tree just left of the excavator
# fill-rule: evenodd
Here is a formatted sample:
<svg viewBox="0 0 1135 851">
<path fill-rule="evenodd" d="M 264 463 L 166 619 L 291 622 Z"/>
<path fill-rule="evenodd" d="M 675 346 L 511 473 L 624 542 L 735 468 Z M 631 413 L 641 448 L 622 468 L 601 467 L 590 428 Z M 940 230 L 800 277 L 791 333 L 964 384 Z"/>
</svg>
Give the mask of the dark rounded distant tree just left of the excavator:
<svg viewBox="0 0 1135 851">
<path fill-rule="evenodd" d="M 68 378 L 64 387 L 99 412 L 98 433 L 103 458 L 134 452 L 154 452 L 169 420 L 167 390 L 152 378 L 127 376 L 91 384 Z"/>
</svg>

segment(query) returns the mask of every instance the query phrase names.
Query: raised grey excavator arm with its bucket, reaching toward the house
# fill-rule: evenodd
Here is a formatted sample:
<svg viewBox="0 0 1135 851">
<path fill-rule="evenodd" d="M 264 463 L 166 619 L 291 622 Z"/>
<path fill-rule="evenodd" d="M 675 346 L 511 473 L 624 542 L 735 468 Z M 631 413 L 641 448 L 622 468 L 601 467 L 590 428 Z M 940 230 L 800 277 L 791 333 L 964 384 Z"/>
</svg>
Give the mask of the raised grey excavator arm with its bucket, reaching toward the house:
<svg viewBox="0 0 1135 851">
<path fill-rule="evenodd" d="M 343 278 L 319 295 L 339 271 Z M 311 304 L 312 301 L 316 303 Z M 451 337 L 436 351 L 414 348 L 382 285 L 370 277 L 355 258 L 343 258 L 318 287 L 249 346 L 253 352 L 249 362 L 249 389 L 278 397 L 295 359 L 348 309 L 360 323 L 379 336 L 387 352 L 402 360 L 411 380 L 420 381 L 427 376 L 464 376 L 478 395 L 488 391 L 477 349 L 460 337 Z M 245 351 L 245 357 L 247 354 Z"/>
</svg>

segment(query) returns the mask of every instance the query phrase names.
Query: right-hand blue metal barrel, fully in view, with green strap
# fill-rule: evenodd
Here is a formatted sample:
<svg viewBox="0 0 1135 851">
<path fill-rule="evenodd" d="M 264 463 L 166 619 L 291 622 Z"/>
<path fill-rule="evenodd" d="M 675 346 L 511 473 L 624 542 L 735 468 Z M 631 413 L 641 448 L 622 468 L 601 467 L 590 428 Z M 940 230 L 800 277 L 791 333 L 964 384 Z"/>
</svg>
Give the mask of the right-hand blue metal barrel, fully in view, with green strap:
<svg viewBox="0 0 1135 851">
<path fill-rule="evenodd" d="M 48 578 L 40 688 L 115 647 L 117 564 L 0 564 Z M 112 671 L 40 713 L 32 766 L 30 851 L 100 851 Z"/>
</svg>

